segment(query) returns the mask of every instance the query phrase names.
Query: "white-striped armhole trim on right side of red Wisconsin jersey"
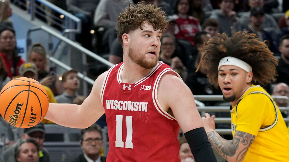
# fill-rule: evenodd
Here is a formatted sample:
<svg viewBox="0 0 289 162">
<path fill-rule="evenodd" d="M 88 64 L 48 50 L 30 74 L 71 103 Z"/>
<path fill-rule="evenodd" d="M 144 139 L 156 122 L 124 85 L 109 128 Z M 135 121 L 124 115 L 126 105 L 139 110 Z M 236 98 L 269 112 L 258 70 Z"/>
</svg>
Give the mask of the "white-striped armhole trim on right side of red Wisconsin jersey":
<svg viewBox="0 0 289 162">
<path fill-rule="evenodd" d="M 155 83 L 153 85 L 153 104 L 155 105 L 155 108 L 158 110 L 158 112 L 165 116 L 166 118 L 170 119 L 170 120 L 176 120 L 173 116 L 171 116 L 169 113 L 167 113 L 166 111 L 164 111 L 164 109 L 162 108 L 162 106 L 160 105 L 160 103 L 158 102 L 158 98 L 157 98 L 157 91 L 158 91 L 158 84 L 159 81 L 161 79 L 161 77 L 168 71 L 173 71 L 171 68 L 165 68 L 164 70 L 162 70 L 162 72 L 160 72 L 160 74 L 158 75 L 158 77 L 155 80 Z M 181 79 L 180 75 L 175 72 L 175 74 Z"/>
</svg>

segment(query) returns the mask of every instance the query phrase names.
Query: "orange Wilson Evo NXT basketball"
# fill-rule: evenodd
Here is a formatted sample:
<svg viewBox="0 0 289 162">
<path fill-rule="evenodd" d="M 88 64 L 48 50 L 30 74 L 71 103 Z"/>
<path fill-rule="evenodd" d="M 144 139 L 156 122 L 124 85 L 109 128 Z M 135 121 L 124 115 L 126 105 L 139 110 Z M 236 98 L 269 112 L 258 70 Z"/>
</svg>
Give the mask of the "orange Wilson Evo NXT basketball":
<svg viewBox="0 0 289 162">
<path fill-rule="evenodd" d="M 44 87 L 31 78 L 16 78 L 0 92 L 0 113 L 10 125 L 29 128 L 42 121 L 49 99 Z"/>
</svg>

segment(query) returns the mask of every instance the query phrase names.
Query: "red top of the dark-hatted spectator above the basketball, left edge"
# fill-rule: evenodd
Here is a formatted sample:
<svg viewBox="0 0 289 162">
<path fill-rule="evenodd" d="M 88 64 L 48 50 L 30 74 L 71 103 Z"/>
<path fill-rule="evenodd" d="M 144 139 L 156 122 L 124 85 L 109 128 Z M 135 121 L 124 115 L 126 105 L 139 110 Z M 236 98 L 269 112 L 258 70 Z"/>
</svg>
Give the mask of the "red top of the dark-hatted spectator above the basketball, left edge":
<svg viewBox="0 0 289 162">
<path fill-rule="evenodd" d="M 19 71 L 19 67 L 23 63 L 25 63 L 25 61 L 20 56 L 17 56 L 17 55 L 14 55 L 12 60 L 8 60 L 7 56 L 2 51 L 0 51 L 0 56 L 1 56 L 2 60 L 3 60 L 4 66 L 7 69 L 8 77 L 10 77 L 12 79 L 12 77 L 17 76 L 18 75 L 18 71 Z M 13 66 L 13 61 L 15 61 L 16 69 Z M 14 71 L 14 70 L 16 70 L 16 71 Z"/>
</svg>

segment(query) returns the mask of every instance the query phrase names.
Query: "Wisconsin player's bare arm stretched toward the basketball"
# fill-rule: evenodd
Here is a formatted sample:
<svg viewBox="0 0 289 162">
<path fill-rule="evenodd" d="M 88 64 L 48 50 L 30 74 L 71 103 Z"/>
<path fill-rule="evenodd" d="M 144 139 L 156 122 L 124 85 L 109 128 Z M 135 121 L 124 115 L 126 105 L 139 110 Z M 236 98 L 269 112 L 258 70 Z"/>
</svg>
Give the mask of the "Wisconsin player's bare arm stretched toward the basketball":
<svg viewBox="0 0 289 162">
<path fill-rule="evenodd" d="M 49 103 L 45 119 L 71 128 L 87 128 L 104 114 L 100 99 L 101 86 L 107 72 L 95 81 L 89 96 L 81 105 Z"/>
</svg>

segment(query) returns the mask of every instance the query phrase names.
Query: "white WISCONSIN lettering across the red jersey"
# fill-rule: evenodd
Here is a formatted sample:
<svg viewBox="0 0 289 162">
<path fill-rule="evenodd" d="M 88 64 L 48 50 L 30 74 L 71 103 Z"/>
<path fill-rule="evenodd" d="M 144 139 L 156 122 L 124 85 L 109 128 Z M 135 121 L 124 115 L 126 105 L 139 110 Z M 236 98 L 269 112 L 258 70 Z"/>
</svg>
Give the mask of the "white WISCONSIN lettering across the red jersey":
<svg viewBox="0 0 289 162">
<path fill-rule="evenodd" d="M 106 109 L 147 112 L 147 102 L 106 100 Z"/>
</svg>

